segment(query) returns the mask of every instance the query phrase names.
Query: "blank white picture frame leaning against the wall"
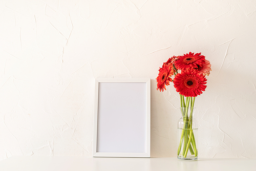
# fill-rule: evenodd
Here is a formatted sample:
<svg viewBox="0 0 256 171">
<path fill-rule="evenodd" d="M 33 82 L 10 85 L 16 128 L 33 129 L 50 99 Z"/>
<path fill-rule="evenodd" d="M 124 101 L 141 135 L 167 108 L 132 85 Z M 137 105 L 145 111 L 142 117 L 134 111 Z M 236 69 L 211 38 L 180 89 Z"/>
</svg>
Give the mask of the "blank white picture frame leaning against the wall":
<svg viewBox="0 0 256 171">
<path fill-rule="evenodd" d="M 150 157 L 150 78 L 95 80 L 93 157 Z"/>
</svg>

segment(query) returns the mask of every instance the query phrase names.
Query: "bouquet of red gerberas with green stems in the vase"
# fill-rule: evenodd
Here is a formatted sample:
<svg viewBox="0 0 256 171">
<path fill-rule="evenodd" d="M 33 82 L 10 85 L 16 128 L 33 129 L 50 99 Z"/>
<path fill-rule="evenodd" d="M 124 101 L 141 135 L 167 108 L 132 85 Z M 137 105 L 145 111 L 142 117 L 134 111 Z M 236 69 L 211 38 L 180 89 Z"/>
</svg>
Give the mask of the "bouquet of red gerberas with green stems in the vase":
<svg viewBox="0 0 256 171">
<path fill-rule="evenodd" d="M 185 130 L 189 129 L 190 126 L 192 127 L 191 113 L 194 109 L 195 98 L 205 91 L 205 84 L 207 81 L 205 76 L 208 76 L 210 71 L 211 65 L 210 62 L 205 59 L 205 56 L 201 55 L 201 53 L 194 54 L 191 52 L 184 54 L 183 56 L 173 56 L 172 58 L 169 58 L 163 63 L 162 68 L 159 69 L 159 74 L 156 78 L 157 90 L 163 92 L 166 90 L 165 86 L 168 86 L 170 84 L 169 82 L 173 82 L 176 91 L 180 94 L 184 129 L 182 130 L 182 136 L 179 143 L 178 156 L 180 155 L 183 142 L 184 151 L 182 156 L 186 158 L 187 151 L 188 149 L 191 150 L 191 147 L 195 148 L 195 156 L 197 156 L 196 143 L 193 142 L 194 134 L 192 131 L 186 132 Z M 174 79 L 172 78 L 173 75 Z M 189 119 L 187 114 L 188 108 L 191 109 Z M 187 121 L 185 122 L 186 118 Z"/>
</svg>

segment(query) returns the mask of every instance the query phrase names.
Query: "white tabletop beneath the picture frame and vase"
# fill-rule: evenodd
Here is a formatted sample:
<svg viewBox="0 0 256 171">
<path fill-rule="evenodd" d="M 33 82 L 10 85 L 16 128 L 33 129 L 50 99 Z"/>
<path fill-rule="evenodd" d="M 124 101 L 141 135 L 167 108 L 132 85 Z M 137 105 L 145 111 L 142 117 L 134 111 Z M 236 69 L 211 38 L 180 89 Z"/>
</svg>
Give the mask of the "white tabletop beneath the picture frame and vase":
<svg viewBox="0 0 256 171">
<path fill-rule="evenodd" d="M 198 159 L 180 161 L 177 158 L 93 158 L 78 156 L 13 156 L 0 161 L 1 171 L 79 171 L 79 170 L 256 170 L 256 159 Z"/>
</svg>

